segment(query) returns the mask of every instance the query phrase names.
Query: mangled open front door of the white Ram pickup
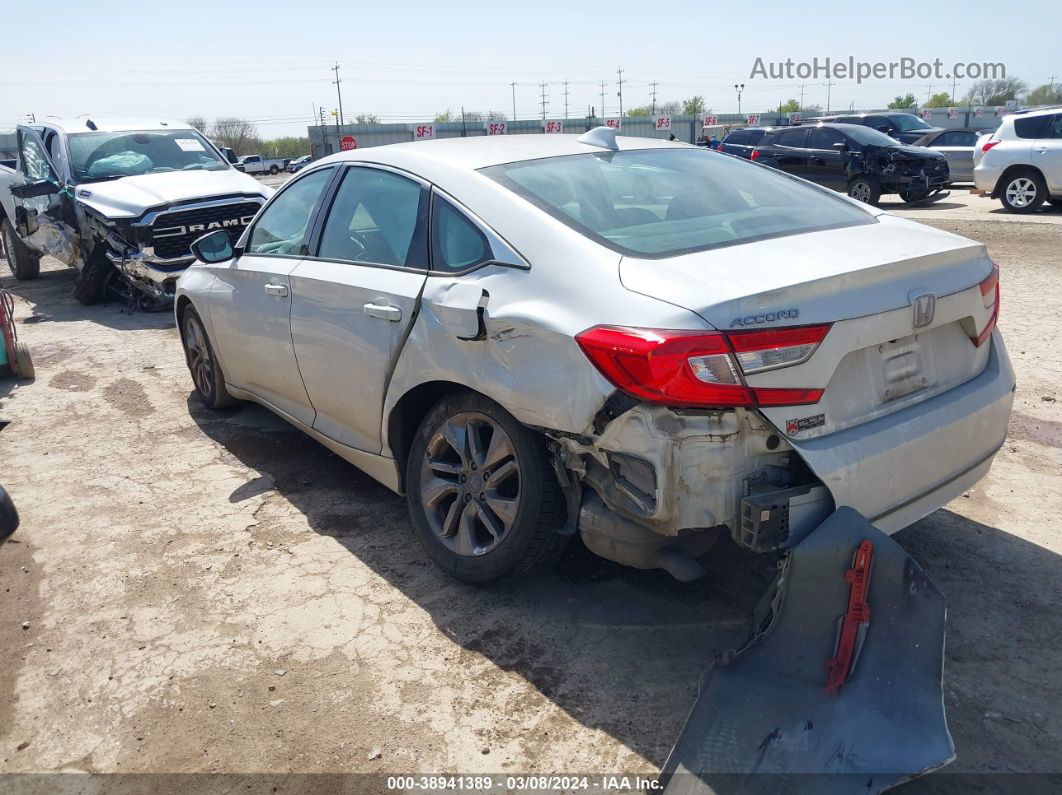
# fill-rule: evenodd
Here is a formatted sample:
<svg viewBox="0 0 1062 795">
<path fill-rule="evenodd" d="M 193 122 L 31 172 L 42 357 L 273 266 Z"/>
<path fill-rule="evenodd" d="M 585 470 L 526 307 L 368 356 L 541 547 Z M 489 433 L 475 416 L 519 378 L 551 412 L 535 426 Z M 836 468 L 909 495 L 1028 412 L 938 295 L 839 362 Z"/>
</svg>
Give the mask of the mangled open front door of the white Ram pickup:
<svg viewBox="0 0 1062 795">
<path fill-rule="evenodd" d="M 18 128 L 18 172 L 12 186 L 15 228 L 35 252 L 70 265 L 81 253 L 73 214 L 73 189 L 61 178 L 40 136 L 30 127 Z"/>
</svg>

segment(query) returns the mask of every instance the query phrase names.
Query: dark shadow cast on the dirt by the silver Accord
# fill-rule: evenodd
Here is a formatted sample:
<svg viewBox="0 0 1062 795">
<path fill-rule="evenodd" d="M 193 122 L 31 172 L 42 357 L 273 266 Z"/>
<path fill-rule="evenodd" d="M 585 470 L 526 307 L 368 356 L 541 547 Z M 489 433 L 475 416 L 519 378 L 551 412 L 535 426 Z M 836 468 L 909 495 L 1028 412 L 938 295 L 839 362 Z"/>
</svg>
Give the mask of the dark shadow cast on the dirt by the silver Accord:
<svg viewBox="0 0 1062 795">
<path fill-rule="evenodd" d="M 261 476 L 230 499 L 276 489 L 315 532 L 427 610 L 456 644 L 518 673 L 576 720 L 657 765 L 704 666 L 743 640 L 748 612 L 773 573 L 726 542 L 708 556 L 705 581 L 682 585 L 601 560 L 577 543 L 551 574 L 465 586 L 427 561 L 405 501 L 340 457 L 260 407 L 218 415 L 194 396 L 188 405 L 204 433 Z M 948 598 L 945 704 L 958 753 L 948 770 L 1062 770 L 1050 739 L 1062 729 L 1058 556 L 943 509 L 897 540 Z M 1016 661 L 1015 646 L 1028 650 Z M 943 792 L 948 775 L 907 789 Z"/>
</svg>

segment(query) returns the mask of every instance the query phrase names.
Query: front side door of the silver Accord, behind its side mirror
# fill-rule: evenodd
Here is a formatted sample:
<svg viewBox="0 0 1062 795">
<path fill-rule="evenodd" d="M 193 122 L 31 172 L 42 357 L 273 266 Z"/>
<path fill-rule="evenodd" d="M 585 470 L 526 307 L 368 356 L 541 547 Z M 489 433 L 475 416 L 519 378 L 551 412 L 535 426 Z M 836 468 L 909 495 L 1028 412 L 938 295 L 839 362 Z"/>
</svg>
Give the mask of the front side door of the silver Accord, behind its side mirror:
<svg viewBox="0 0 1062 795">
<path fill-rule="evenodd" d="M 211 266 L 209 322 L 228 382 L 307 426 L 313 408 L 291 344 L 290 275 L 335 173 L 318 169 L 285 186 L 255 220 L 242 254 Z"/>
</svg>

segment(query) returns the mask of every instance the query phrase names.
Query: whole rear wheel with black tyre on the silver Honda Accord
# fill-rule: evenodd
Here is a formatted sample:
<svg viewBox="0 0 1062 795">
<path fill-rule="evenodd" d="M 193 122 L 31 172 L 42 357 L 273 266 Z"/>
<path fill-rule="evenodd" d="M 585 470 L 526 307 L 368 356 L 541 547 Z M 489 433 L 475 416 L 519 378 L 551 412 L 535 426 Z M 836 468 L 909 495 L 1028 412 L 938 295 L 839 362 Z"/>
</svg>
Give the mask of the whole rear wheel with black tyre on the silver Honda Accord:
<svg viewBox="0 0 1062 795">
<path fill-rule="evenodd" d="M 466 583 L 531 573 L 568 542 L 543 437 L 472 392 L 447 395 L 421 422 L 406 496 L 428 556 Z"/>
</svg>

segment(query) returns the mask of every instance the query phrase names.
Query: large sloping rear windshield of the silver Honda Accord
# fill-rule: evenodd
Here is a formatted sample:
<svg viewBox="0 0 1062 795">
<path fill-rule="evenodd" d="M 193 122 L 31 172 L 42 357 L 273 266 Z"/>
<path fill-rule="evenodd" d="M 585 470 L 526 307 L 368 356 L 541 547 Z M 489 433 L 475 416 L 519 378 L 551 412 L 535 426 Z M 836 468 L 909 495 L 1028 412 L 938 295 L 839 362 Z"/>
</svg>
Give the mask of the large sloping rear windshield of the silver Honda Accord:
<svg viewBox="0 0 1062 795">
<path fill-rule="evenodd" d="M 704 150 L 567 155 L 481 173 L 592 240 L 637 257 L 874 223 L 823 189 Z"/>
</svg>

